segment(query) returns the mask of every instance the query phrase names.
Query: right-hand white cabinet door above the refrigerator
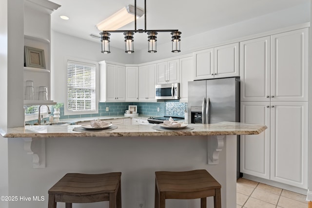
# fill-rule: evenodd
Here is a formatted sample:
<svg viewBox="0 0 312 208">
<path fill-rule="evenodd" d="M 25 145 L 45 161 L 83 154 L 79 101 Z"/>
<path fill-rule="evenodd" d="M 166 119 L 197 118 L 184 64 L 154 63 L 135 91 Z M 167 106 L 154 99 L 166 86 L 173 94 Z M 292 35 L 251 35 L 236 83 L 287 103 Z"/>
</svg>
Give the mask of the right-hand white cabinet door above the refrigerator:
<svg viewBox="0 0 312 208">
<path fill-rule="evenodd" d="M 215 78 L 239 76 L 239 43 L 215 47 Z"/>
</svg>

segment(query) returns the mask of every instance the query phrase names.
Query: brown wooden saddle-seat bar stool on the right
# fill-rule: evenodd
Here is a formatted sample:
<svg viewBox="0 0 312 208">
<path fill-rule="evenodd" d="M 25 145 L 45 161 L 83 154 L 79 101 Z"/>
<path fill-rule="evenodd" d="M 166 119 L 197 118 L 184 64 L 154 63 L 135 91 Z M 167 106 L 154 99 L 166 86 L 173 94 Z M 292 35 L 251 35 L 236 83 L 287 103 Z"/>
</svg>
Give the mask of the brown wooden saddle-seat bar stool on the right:
<svg viewBox="0 0 312 208">
<path fill-rule="evenodd" d="M 213 196 L 215 208 L 221 208 L 221 185 L 207 170 L 182 172 L 156 171 L 155 208 L 165 208 L 166 199 L 199 199 L 207 207 L 206 197 Z"/>
</svg>

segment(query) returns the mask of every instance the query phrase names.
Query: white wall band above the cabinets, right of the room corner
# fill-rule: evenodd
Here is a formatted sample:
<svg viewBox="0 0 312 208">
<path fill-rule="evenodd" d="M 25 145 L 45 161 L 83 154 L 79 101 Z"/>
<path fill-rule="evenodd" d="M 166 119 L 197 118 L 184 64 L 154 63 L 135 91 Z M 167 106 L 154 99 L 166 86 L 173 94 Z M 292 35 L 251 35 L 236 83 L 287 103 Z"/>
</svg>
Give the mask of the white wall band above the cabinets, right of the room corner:
<svg viewBox="0 0 312 208">
<path fill-rule="evenodd" d="M 146 49 L 136 51 L 135 63 L 144 63 L 158 59 L 190 54 L 198 49 L 221 44 L 237 38 L 264 33 L 295 24 L 310 21 L 310 4 L 301 4 L 296 7 L 281 10 L 254 19 L 247 19 L 236 24 L 221 27 L 192 37 L 184 38 L 181 34 L 181 52 L 171 52 L 171 41 L 166 44 L 157 44 L 157 53 L 147 53 Z M 196 31 L 194 31 L 196 34 Z M 159 43 L 160 41 L 157 41 Z"/>
</svg>

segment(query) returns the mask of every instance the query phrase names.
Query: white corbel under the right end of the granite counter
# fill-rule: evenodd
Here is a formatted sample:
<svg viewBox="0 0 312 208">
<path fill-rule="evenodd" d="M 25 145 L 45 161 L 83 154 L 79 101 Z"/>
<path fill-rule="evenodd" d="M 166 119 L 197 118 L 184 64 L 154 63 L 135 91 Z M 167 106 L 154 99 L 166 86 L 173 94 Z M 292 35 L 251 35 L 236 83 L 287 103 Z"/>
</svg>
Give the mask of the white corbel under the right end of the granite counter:
<svg viewBox="0 0 312 208">
<path fill-rule="evenodd" d="M 219 152 L 224 146 L 224 139 L 226 135 L 208 136 L 208 164 L 219 164 Z"/>
</svg>

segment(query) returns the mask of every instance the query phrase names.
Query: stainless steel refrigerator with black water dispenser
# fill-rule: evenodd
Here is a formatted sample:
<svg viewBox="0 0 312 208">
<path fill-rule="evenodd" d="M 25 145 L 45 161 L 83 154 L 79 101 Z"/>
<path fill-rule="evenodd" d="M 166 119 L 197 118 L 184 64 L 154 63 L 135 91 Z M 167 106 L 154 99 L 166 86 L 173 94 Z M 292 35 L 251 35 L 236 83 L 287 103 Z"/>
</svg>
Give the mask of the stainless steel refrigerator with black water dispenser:
<svg viewBox="0 0 312 208">
<path fill-rule="evenodd" d="M 239 122 L 239 77 L 188 82 L 188 123 Z M 239 177 L 237 136 L 237 177 Z"/>
</svg>

